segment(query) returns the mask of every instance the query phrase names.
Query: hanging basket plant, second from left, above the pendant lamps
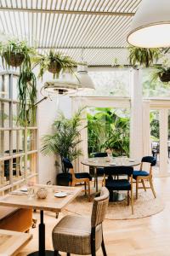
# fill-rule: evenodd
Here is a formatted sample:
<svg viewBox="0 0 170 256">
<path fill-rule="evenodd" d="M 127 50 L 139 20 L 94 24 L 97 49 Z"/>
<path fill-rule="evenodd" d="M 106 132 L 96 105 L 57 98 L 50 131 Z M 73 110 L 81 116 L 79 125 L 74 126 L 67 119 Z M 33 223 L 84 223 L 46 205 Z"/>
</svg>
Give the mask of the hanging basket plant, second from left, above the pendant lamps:
<svg viewBox="0 0 170 256">
<path fill-rule="evenodd" d="M 49 51 L 47 55 L 39 55 L 33 59 L 35 66 L 40 66 L 39 78 L 48 71 L 54 74 L 54 79 L 59 78 L 59 73 L 69 71 L 73 73 L 73 67 L 77 66 L 77 62 L 73 61 L 70 56 L 63 55 L 59 52 Z"/>
</svg>

